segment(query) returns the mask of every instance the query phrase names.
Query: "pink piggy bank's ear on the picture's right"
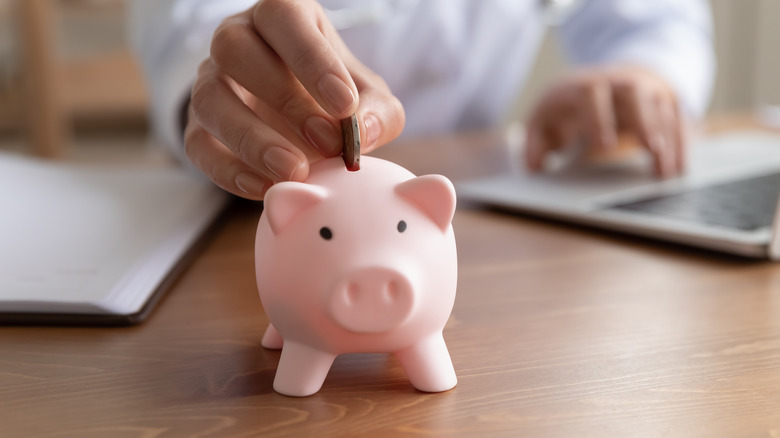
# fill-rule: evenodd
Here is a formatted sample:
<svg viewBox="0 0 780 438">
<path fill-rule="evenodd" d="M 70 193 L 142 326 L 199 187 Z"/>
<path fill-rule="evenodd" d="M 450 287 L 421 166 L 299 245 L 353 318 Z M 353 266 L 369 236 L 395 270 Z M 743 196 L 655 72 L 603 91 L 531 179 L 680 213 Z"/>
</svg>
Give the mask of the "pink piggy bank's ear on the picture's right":
<svg viewBox="0 0 780 438">
<path fill-rule="evenodd" d="M 395 192 L 446 231 L 455 214 L 455 188 L 441 175 L 423 175 L 395 186 Z"/>
</svg>

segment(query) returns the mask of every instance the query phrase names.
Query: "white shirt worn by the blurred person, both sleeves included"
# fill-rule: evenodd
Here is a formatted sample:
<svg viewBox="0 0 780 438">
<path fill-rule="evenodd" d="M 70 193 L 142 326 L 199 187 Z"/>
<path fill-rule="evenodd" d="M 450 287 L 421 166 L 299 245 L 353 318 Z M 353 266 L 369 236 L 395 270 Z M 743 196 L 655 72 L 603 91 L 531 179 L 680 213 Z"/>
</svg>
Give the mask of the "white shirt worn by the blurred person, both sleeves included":
<svg viewBox="0 0 780 438">
<path fill-rule="evenodd" d="M 131 32 L 152 97 L 152 126 L 181 155 L 179 109 L 221 20 L 255 0 L 134 0 Z M 552 0 L 322 0 L 347 46 L 401 100 L 404 134 L 498 123 L 547 27 Z M 705 0 L 582 0 L 556 26 L 578 65 L 632 63 L 666 78 L 701 116 L 713 82 Z"/>
</svg>

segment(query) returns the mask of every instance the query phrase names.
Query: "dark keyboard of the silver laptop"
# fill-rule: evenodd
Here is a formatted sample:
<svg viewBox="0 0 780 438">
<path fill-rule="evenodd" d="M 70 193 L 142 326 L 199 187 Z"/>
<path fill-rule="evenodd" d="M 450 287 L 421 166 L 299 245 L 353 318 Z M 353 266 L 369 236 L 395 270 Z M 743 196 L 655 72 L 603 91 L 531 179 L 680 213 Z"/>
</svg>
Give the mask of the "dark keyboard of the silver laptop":
<svg viewBox="0 0 780 438">
<path fill-rule="evenodd" d="M 772 225 L 780 173 L 610 206 L 610 209 L 752 231 Z"/>
</svg>

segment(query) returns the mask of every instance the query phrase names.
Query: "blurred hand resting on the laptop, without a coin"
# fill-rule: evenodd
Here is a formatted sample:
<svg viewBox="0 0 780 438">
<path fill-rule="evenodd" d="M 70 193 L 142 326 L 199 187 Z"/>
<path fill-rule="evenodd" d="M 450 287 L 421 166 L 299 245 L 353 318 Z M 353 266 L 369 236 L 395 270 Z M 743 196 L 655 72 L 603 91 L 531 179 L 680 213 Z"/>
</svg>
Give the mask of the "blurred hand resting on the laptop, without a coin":
<svg viewBox="0 0 780 438">
<path fill-rule="evenodd" d="M 661 77 L 639 67 L 586 70 L 565 77 L 539 100 L 527 123 L 526 163 L 541 170 L 550 151 L 584 140 L 599 151 L 617 149 L 618 133 L 633 134 L 668 178 L 685 162 L 677 98 Z"/>
</svg>

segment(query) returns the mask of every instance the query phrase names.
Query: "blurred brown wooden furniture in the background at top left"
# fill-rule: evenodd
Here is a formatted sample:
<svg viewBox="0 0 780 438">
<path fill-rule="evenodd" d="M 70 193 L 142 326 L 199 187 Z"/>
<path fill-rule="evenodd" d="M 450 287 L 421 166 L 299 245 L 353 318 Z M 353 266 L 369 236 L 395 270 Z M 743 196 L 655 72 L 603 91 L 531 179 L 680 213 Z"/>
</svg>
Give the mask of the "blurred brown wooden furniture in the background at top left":
<svg viewBox="0 0 780 438">
<path fill-rule="evenodd" d="M 68 5 L 73 3 L 79 2 Z M 129 50 L 121 48 L 88 59 L 61 59 L 55 29 L 63 4 L 58 0 L 16 0 L 13 6 L 24 86 L 11 104 L 21 114 L 18 123 L 34 155 L 63 156 L 77 117 L 144 116 L 147 93 Z"/>
</svg>

